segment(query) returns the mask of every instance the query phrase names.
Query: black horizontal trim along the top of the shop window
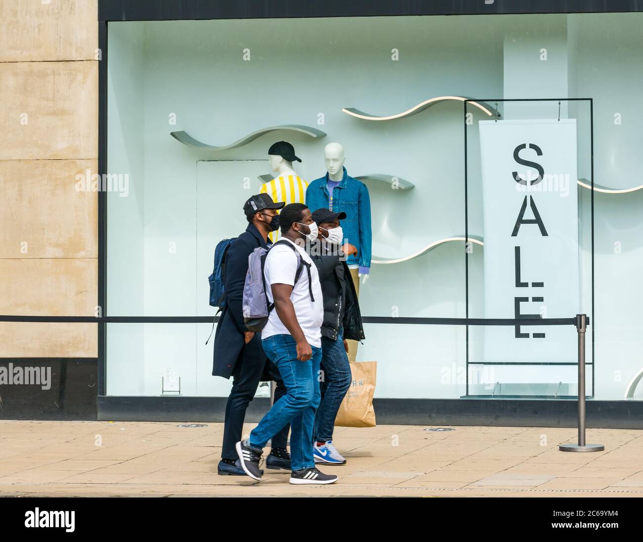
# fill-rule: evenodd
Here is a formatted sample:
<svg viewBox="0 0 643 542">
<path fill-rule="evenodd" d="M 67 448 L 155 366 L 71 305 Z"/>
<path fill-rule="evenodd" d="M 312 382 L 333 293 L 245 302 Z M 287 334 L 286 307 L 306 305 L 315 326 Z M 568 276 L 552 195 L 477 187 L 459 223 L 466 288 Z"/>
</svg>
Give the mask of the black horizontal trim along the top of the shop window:
<svg viewBox="0 0 643 542">
<path fill-rule="evenodd" d="M 98 0 L 99 21 L 643 11 L 641 0 Z"/>
</svg>

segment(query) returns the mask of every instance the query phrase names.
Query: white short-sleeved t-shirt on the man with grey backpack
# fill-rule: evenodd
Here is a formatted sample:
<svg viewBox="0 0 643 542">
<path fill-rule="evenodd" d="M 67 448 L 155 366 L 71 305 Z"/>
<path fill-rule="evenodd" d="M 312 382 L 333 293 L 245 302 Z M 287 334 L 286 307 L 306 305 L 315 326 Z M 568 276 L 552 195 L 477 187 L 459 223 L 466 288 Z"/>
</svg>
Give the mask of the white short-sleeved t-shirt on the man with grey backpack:
<svg viewBox="0 0 643 542">
<path fill-rule="evenodd" d="M 311 257 L 291 240 L 282 237 L 285 242 L 291 243 L 299 252 L 303 261 L 311 266 L 311 285 L 314 302 L 311 302 L 311 294 L 308 289 L 308 273 L 306 266 L 302 267 L 302 273 L 294 283 L 294 275 L 299 265 L 299 257 L 293 249 L 287 246 L 276 245 L 270 249 L 266 256 L 264 266 L 264 279 L 266 280 L 266 294 L 268 301 L 273 302 L 271 285 L 290 284 L 294 285 L 290 300 L 293 302 L 294 314 L 297 316 L 299 326 L 309 345 L 321 347 L 321 324 L 323 323 L 323 298 L 321 296 L 320 278 L 317 267 L 312 263 Z M 266 326 L 261 331 L 261 338 L 265 339 L 273 335 L 290 335 L 289 330 L 279 319 L 276 309 L 270 311 Z"/>
</svg>

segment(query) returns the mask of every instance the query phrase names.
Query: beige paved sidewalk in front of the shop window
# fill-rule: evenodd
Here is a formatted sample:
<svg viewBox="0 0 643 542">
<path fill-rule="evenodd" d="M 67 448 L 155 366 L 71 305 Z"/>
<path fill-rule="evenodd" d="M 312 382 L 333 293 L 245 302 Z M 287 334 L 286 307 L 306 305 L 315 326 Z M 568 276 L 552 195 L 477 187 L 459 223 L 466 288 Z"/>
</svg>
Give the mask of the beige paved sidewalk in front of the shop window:
<svg viewBox="0 0 643 542">
<path fill-rule="evenodd" d="M 590 429 L 604 452 L 564 453 L 575 429 L 337 428 L 348 464 L 321 469 L 339 482 L 302 487 L 218 476 L 223 424 L 204 425 L 0 420 L 0 496 L 643 496 L 635 429 Z"/>
</svg>

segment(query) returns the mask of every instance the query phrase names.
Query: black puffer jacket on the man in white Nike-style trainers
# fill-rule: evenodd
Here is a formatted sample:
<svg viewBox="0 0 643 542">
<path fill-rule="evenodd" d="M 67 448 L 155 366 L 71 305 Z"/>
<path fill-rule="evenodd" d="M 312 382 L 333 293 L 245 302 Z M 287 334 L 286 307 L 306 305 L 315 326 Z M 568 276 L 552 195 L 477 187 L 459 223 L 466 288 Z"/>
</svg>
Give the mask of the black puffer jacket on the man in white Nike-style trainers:
<svg viewBox="0 0 643 542">
<path fill-rule="evenodd" d="M 310 248 L 309 255 L 319 272 L 323 294 L 321 335 L 337 339 L 343 327 L 345 339 L 361 341 L 365 336 L 358 296 L 343 252 L 319 240 Z"/>
</svg>

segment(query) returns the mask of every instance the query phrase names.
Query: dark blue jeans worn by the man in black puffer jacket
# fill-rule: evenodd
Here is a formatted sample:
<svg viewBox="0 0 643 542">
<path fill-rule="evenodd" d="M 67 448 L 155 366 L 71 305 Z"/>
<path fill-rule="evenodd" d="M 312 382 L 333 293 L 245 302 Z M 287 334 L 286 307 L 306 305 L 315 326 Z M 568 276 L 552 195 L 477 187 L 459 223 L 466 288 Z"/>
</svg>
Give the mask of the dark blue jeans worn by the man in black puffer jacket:
<svg viewBox="0 0 643 542">
<path fill-rule="evenodd" d="M 352 375 L 349 357 L 344 348 L 342 330 L 337 339 L 321 338 L 321 402 L 315 416 L 315 427 L 312 431 L 313 442 L 332 440 L 335 418 L 340 410 L 341 401 L 349 391 Z"/>
</svg>

